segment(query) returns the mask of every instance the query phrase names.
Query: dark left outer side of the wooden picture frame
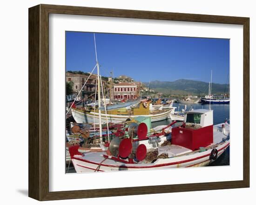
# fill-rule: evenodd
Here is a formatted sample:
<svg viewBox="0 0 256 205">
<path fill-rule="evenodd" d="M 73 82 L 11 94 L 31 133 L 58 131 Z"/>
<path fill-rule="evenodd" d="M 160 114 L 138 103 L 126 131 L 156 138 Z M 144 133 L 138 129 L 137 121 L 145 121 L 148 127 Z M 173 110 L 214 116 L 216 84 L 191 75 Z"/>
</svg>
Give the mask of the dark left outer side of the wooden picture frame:
<svg viewBox="0 0 256 205">
<path fill-rule="evenodd" d="M 28 11 L 28 196 L 40 199 L 40 6 Z"/>
</svg>

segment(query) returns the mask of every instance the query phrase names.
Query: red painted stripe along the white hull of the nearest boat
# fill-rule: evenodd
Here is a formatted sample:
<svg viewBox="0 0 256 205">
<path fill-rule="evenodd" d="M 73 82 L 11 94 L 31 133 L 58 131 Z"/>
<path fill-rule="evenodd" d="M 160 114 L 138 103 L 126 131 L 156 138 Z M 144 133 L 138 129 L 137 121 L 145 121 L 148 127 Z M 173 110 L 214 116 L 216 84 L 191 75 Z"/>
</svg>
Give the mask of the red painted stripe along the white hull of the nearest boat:
<svg viewBox="0 0 256 205">
<path fill-rule="evenodd" d="M 225 148 L 228 147 L 228 146 L 229 146 L 229 143 L 228 143 L 227 145 L 225 145 L 224 147 L 222 147 L 221 149 L 218 149 L 218 152 L 221 151 L 222 149 L 225 149 Z M 186 162 L 189 162 L 189 161 L 198 160 L 198 159 L 207 157 L 207 156 L 209 156 L 209 155 L 210 155 L 210 153 L 209 153 L 209 154 L 202 155 L 202 156 L 200 156 L 200 157 L 196 157 L 196 158 L 193 158 L 193 159 L 189 159 L 189 160 L 182 160 L 182 161 L 170 162 L 170 163 L 166 163 L 166 164 L 159 164 L 159 165 L 152 165 L 152 166 L 135 167 L 135 166 L 118 166 L 118 165 L 106 165 L 106 164 L 101 164 L 101 166 L 105 166 L 105 167 L 119 167 L 119 168 L 136 168 L 136 169 L 141 169 L 141 168 L 154 168 L 154 167 L 165 167 L 165 166 L 169 166 L 169 165 L 182 164 L 182 163 L 186 163 Z M 73 157 L 73 159 L 75 159 L 75 160 L 81 160 L 81 161 L 84 161 L 84 162 L 87 162 L 87 163 L 91 163 L 91 164 L 95 164 L 95 165 L 99 165 L 99 163 L 96 163 L 96 162 L 93 162 L 93 161 L 89 161 L 89 160 L 85 160 L 85 159 L 81 159 L 81 158 Z"/>
</svg>

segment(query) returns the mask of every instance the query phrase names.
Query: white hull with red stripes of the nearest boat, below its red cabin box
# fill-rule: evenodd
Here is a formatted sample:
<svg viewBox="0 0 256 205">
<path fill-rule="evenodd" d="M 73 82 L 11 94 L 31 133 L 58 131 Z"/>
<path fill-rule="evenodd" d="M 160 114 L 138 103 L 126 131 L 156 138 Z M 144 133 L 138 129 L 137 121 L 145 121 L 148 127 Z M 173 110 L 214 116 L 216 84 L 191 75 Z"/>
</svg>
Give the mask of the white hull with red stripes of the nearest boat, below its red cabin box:
<svg viewBox="0 0 256 205">
<path fill-rule="evenodd" d="M 76 172 L 106 172 L 106 171 L 132 171 L 148 170 L 178 167 L 202 167 L 207 166 L 212 160 L 211 152 L 217 149 L 217 158 L 229 147 L 229 125 L 222 129 L 222 124 L 214 126 L 214 143 L 209 147 L 202 148 L 199 151 L 178 146 L 179 149 L 185 149 L 185 152 L 174 155 L 166 159 L 157 159 L 153 163 L 124 163 L 111 159 L 111 156 L 104 158 L 104 153 L 86 153 L 83 155 L 72 156 L 72 162 Z M 226 139 L 223 141 L 223 139 Z M 171 145 L 172 146 L 172 145 Z M 174 145 L 175 146 L 175 145 Z M 187 150 L 186 150 L 187 149 Z"/>
</svg>

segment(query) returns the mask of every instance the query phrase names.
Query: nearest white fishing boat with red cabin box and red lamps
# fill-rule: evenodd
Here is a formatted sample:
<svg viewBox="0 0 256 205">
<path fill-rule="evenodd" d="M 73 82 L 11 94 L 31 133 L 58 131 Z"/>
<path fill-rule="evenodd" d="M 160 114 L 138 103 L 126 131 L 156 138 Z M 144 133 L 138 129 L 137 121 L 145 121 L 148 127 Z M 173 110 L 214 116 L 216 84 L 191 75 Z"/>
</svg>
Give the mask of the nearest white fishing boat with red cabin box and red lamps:
<svg viewBox="0 0 256 205">
<path fill-rule="evenodd" d="M 112 145 L 111 142 L 107 153 L 81 154 L 77 146 L 69 147 L 75 171 L 80 173 L 207 166 L 229 147 L 229 124 L 223 122 L 213 125 L 213 110 L 195 109 L 186 113 L 182 126 L 172 128 L 171 145 L 147 148 L 145 143 L 150 143 L 152 138 L 147 137 L 143 130 L 138 132 L 138 138 L 120 139 Z"/>
</svg>

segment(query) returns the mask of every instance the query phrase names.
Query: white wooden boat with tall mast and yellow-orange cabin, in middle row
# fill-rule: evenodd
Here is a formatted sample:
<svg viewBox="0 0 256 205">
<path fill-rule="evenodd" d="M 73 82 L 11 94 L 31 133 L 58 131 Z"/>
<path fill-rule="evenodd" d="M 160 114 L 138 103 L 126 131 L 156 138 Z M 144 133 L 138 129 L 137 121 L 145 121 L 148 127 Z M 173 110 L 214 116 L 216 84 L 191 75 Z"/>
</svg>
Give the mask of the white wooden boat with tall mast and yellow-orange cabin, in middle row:
<svg viewBox="0 0 256 205">
<path fill-rule="evenodd" d="M 137 101 L 134 102 L 128 102 L 129 105 L 126 103 L 123 103 L 121 105 L 110 105 L 107 106 L 106 102 L 103 101 L 101 103 L 101 99 L 106 99 L 104 87 L 102 86 L 100 71 L 99 71 L 99 62 L 97 58 L 97 51 L 96 51 L 96 41 L 95 41 L 95 35 L 94 35 L 94 46 L 95 46 L 95 55 L 96 55 L 96 65 L 94 69 L 97 67 L 97 80 L 96 80 L 96 89 L 95 89 L 95 99 L 96 94 L 98 93 L 98 103 L 96 107 L 96 103 L 94 103 L 94 106 L 87 106 L 87 107 L 81 107 L 78 108 L 74 105 L 74 102 L 71 104 L 70 108 L 67 109 L 67 114 L 71 110 L 72 116 L 77 123 L 96 123 L 101 125 L 101 123 L 120 123 L 125 122 L 128 119 L 135 118 L 137 116 L 146 116 L 151 118 L 151 122 L 157 122 L 169 119 L 171 117 L 171 111 L 173 108 L 166 108 L 162 110 L 150 110 L 149 109 L 149 101 L 147 102 L 140 102 Z M 92 70 L 92 72 L 94 71 Z M 91 72 L 91 73 L 92 73 Z M 91 75 L 91 74 L 90 74 Z M 89 76 L 90 77 L 90 76 Z M 88 79 L 89 79 L 88 77 Z M 85 84 L 82 86 L 81 90 L 78 92 L 77 97 L 83 90 Z M 102 95 L 102 96 L 101 96 Z M 74 99 L 76 101 L 77 97 Z M 101 107 L 101 104 L 103 106 Z M 136 106 L 135 106 L 136 105 Z M 115 107 L 115 109 L 113 109 Z M 130 109 L 127 109 L 127 107 L 130 107 Z"/>
</svg>

